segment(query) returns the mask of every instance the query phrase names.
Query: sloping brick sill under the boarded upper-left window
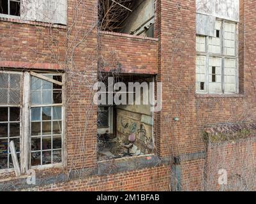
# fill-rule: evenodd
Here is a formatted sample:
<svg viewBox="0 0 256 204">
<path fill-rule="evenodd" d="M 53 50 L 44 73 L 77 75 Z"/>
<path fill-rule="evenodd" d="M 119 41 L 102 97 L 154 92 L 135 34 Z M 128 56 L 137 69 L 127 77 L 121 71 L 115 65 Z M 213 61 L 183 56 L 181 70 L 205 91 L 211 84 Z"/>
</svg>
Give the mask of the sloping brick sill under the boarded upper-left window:
<svg viewBox="0 0 256 204">
<path fill-rule="evenodd" d="M 15 17 L 15 16 L 3 16 L 0 15 L 0 21 L 5 21 L 5 22 L 14 22 L 17 24 L 29 24 L 29 25 L 38 25 L 38 26 L 43 26 L 43 27 L 56 27 L 60 29 L 66 29 L 66 25 L 58 25 L 58 24 L 49 24 L 49 23 L 44 23 L 44 22 L 37 22 L 37 21 L 29 21 L 29 20 L 22 20 L 20 17 Z"/>
</svg>

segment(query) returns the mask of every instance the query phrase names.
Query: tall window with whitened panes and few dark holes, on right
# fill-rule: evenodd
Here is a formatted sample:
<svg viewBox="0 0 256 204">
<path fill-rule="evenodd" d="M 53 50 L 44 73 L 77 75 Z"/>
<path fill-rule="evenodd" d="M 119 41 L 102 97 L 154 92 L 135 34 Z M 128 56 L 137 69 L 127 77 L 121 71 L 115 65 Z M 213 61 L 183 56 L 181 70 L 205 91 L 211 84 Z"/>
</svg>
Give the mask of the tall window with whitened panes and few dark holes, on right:
<svg viewBox="0 0 256 204">
<path fill-rule="evenodd" d="M 214 36 L 197 35 L 197 92 L 237 92 L 238 52 L 236 45 L 236 22 L 216 20 Z M 202 89 L 202 83 L 204 83 L 204 89 Z"/>
</svg>

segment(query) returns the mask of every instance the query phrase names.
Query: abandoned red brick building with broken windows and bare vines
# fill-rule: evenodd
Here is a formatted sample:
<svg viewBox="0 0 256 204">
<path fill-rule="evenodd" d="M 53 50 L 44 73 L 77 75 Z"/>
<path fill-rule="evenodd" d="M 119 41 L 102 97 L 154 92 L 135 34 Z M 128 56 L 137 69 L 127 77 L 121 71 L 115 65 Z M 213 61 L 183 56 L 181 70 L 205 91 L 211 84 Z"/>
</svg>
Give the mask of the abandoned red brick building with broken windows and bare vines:
<svg viewBox="0 0 256 204">
<path fill-rule="evenodd" d="M 255 190 L 255 3 L 0 0 L 0 190 Z M 162 110 L 94 105 L 108 77 Z"/>
</svg>

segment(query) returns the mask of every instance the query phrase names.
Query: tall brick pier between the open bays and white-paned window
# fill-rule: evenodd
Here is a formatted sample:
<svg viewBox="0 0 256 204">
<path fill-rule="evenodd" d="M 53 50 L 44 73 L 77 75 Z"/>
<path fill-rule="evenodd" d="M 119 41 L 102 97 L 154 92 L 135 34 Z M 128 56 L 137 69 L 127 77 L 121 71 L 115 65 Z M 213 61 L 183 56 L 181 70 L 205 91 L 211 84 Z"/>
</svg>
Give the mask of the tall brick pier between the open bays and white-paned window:
<svg viewBox="0 0 256 204">
<path fill-rule="evenodd" d="M 158 152 L 161 156 L 196 152 L 204 146 L 195 103 L 195 1 L 158 1 L 157 6 L 158 80 L 163 82 Z"/>
</svg>

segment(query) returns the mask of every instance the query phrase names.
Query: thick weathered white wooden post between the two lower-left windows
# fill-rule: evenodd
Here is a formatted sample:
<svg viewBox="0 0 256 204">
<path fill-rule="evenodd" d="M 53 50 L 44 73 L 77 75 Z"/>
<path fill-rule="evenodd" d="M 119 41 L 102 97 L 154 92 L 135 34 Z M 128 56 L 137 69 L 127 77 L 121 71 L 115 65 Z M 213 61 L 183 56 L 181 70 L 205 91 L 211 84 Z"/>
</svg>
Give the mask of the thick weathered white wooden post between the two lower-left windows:
<svg viewBox="0 0 256 204">
<path fill-rule="evenodd" d="M 23 100 L 22 100 L 22 149 L 20 150 L 20 170 L 26 173 L 29 169 L 29 152 L 30 152 L 30 75 L 24 72 Z"/>
</svg>

